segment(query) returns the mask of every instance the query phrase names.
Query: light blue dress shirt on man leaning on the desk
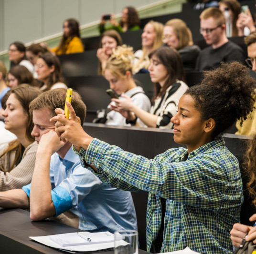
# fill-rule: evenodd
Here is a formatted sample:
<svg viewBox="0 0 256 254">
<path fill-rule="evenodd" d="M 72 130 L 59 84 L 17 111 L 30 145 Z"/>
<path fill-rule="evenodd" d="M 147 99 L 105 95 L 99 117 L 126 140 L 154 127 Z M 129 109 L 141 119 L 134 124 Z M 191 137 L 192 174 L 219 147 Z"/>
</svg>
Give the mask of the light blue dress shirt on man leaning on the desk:
<svg viewBox="0 0 256 254">
<path fill-rule="evenodd" d="M 137 219 L 131 193 L 102 183 L 82 167 L 72 147 L 62 160 L 51 157 L 50 180 L 56 216 L 71 210 L 79 216 L 79 229 L 97 232 L 137 230 Z M 31 184 L 22 189 L 30 195 Z"/>
</svg>

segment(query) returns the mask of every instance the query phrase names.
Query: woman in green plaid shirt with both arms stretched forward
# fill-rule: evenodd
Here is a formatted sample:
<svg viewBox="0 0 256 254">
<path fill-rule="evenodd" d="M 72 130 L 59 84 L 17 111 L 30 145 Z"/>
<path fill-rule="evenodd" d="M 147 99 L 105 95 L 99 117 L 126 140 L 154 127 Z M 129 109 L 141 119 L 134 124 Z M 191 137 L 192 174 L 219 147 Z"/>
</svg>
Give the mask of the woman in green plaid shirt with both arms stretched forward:
<svg viewBox="0 0 256 254">
<path fill-rule="evenodd" d="M 181 97 L 171 118 L 174 141 L 188 149 L 170 149 L 153 160 L 90 137 L 70 103 L 70 121 L 63 109 L 55 110 L 55 131 L 75 145 L 82 165 L 92 164 L 91 171 L 111 186 L 149 192 L 149 252 L 188 246 L 201 254 L 232 253 L 229 231 L 240 218 L 242 180 L 221 134 L 253 109 L 255 81 L 248 71 L 233 62 L 205 72 L 202 83 Z"/>
</svg>

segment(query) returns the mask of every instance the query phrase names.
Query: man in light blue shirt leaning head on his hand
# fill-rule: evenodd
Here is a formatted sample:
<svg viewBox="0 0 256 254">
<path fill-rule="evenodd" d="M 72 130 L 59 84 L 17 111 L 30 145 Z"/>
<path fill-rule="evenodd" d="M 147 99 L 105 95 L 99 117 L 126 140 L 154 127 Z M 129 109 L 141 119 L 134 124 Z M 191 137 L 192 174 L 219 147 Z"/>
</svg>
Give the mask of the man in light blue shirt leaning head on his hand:
<svg viewBox="0 0 256 254">
<path fill-rule="evenodd" d="M 29 197 L 30 216 L 35 221 L 70 209 L 79 217 L 79 228 L 82 230 L 112 233 L 116 230 L 136 230 L 137 220 L 131 194 L 105 185 L 83 168 L 79 156 L 72 150 L 72 144 L 61 141 L 53 131 L 54 122 L 50 122 L 50 118 L 54 116 L 56 107 L 64 107 L 64 100 L 65 89 L 54 89 L 44 92 L 30 104 L 35 124 L 32 135 L 39 143 L 35 169 L 31 184 L 23 186 L 22 190 L 12 190 L 16 191 L 17 198 L 11 201 L 13 196 L 10 196 L 8 207 L 19 207 L 21 201 L 26 207 Z M 84 122 L 85 104 L 74 91 L 72 104 Z M 8 192 L 5 192 L 7 196 Z M 15 206 L 11 206 L 11 203 Z"/>
</svg>

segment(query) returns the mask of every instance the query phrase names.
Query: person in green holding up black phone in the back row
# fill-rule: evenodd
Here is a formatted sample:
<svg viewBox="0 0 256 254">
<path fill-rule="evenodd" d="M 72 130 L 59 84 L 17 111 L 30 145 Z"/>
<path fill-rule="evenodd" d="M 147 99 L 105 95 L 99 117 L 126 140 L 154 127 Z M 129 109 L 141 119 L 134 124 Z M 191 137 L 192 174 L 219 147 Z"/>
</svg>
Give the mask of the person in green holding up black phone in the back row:
<svg viewBox="0 0 256 254">
<path fill-rule="evenodd" d="M 109 21 L 110 25 L 106 26 L 106 21 Z M 106 30 L 114 29 L 117 32 L 126 32 L 128 30 L 134 31 L 140 29 L 140 19 L 137 10 L 132 6 L 127 6 L 122 10 L 122 16 L 120 22 L 116 20 L 115 15 L 103 14 L 101 16 L 99 24 L 100 34 Z"/>
</svg>

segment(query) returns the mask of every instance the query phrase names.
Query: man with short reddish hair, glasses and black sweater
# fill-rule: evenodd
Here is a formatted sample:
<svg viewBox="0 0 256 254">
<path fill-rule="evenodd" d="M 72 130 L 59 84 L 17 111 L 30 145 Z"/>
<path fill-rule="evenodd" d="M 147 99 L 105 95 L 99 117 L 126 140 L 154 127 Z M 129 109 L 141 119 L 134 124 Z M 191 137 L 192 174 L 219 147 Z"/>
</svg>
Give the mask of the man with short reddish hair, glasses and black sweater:
<svg viewBox="0 0 256 254">
<path fill-rule="evenodd" d="M 227 39 L 225 17 L 221 10 L 216 7 L 203 10 L 200 20 L 200 33 L 210 46 L 199 54 L 196 70 L 209 70 L 222 61 L 245 61 L 244 51 Z"/>
</svg>

